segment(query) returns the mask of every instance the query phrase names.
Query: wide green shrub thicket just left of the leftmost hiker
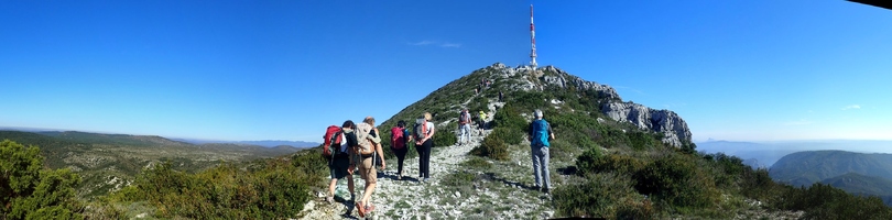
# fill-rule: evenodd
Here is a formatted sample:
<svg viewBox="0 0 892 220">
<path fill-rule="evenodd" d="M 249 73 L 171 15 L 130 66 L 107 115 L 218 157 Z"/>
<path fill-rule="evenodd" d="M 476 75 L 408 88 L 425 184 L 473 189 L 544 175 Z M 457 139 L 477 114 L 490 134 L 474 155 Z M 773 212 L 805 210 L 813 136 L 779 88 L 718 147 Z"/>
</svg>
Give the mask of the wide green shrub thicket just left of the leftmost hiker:
<svg viewBox="0 0 892 220">
<path fill-rule="evenodd" d="M 174 170 L 171 163 L 146 169 L 116 194 L 121 201 L 148 201 L 163 218 L 278 219 L 303 209 L 311 187 L 322 183 L 326 161 L 311 148 L 292 157 L 219 166 L 197 174 Z"/>
</svg>

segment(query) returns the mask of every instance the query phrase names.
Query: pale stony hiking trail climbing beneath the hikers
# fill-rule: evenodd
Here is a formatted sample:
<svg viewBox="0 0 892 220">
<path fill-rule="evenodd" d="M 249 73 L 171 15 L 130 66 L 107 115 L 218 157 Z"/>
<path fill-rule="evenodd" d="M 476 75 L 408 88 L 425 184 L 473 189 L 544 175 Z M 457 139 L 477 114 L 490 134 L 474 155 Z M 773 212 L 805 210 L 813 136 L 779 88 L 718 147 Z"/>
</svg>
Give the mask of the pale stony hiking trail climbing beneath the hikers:
<svg viewBox="0 0 892 220">
<path fill-rule="evenodd" d="M 468 100 L 470 101 L 470 99 Z M 465 102 L 467 105 L 467 102 Z M 497 107 L 503 102 L 490 102 L 488 121 L 491 121 Z M 437 128 L 446 129 L 446 128 Z M 455 129 L 455 128 L 447 128 Z M 418 178 L 418 157 L 407 157 L 403 164 L 403 179 L 396 179 L 396 158 L 387 161 L 384 172 L 379 173 L 378 186 L 371 198 L 376 206 L 368 219 L 543 219 L 551 218 L 554 210 L 551 196 L 532 190 L 532 162 L 530 151 L 514 151 L 508 164 L 509 170 L 490 173 L 488 183 L 467 183 L 463 195 L 453 184 L 446 184 L 444 177 L 463 172 L 460 166 L 466 162 L 474 147 L 479 146 L 491 130 L 478 132 L 472 127 L 469 144 L 435 146 L 431 153 L 431 179 L 422 183 Z M 443 130 L 439 130 L 443 131 Z M 444 135 L 437 132 L 435 135 Z M 523 147 L 521 147 L 523 148 Z M 389 147 L 384 147 L 389 151 Z M 415 151 L 411 148 L 410 151 Z M 554 169 L 554 167 L 552 167 Z M 476 175 L 483 175 L 477 172 Z M 355 176 L 357 200 L 361 197 L 365 182 Z M 556 179 L 552 180 L 556 183 Z M 523 184 L 522 184 L 523 183 Z M 353 201 L 347 189 L 347 180 L 338 182 L 336 197 L 339 201 L 325 201 L 327 189 L 316 191 L 315 199 L 307 202 L 298 219 L 359 219 Z M 468 194 L 470 191 L 470 194 Z M 346 201 L 345 201 L 346 199 Z"/>
</svg>

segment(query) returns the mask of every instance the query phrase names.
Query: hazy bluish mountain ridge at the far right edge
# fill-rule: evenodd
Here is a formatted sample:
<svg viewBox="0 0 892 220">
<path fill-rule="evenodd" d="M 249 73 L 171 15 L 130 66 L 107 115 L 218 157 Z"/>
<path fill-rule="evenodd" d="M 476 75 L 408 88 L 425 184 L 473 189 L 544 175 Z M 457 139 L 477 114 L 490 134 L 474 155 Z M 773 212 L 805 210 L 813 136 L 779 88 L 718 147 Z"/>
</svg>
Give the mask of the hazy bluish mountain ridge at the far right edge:
<svg viewBox="0 0 892 220">
<path fill-rule="evenodd" d="M 856 173 L 892 179 L 892 154 L 846 151 L 809 151 L 788 154 L 771 166 L 772 178 L 793 186 L 808 186 L 824 179 Z"/>
</svg>

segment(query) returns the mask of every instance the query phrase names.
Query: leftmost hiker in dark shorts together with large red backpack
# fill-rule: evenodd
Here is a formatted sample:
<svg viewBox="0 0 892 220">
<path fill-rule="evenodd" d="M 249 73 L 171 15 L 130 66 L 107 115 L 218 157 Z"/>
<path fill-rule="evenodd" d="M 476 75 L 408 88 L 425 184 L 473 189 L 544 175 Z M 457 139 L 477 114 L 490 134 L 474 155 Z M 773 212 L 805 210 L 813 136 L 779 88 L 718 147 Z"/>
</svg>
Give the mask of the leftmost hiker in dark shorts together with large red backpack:
<svg viewBox="0 0 892 220">
<path fill-rule="evenodd" d="M 353 190 L 353 175 L 347 175 L 350 166 L 350 146 L 358 145 L 356 133 L 353 133 L 356 124 L 351 120 L 347 120 L 338 128 L 337 125 L 328 127 L 325 132 L 323 143 L 323 156 L 328 160 L 328 170 L 331 175 L 331 182 L 328 184 L 328 196 L 325 201 L 335 201 L 335 188 L 337 188 L 338 179 L 347 177 L 347 188 L 350 189 L 350 201 L 356 199 L 356 191 Z"/>
</svg>

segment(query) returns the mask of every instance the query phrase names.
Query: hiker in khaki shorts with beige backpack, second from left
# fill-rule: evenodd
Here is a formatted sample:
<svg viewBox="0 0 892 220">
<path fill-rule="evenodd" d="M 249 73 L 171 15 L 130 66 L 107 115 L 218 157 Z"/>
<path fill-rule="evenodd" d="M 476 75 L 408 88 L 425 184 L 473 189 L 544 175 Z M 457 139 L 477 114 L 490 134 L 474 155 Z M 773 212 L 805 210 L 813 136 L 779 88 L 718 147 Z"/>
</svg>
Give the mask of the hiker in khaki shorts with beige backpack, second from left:
<svg viewBox="0 0 892 220">
<path fill-rule="evenodd" d="M 381 132 L 374 128 L 374 118 L 366 117 L 362 123 L 357 125 L 356 136 L 359 142 L 358 147 L 353 147 L 360 160 L 353 161 L 349 170 L 352 172 L 353 167 L 359 167 L 359 176 L 366 180 L 366 190 L 362 193 L 362 198 L 356 204 L 359 209 L 359 217 L 365 217 L 374 209 L 374 206 L 369 204 L 374 187 L 378 184 L 378 170 L 374 168 L 374 158 L 380 157 L 381 169 L 384 169 L 384 154 L 381 150 Z"/>
</svg>

